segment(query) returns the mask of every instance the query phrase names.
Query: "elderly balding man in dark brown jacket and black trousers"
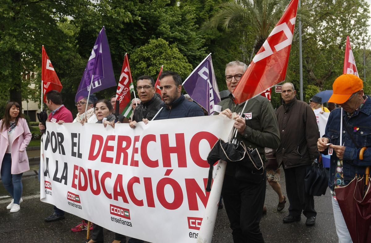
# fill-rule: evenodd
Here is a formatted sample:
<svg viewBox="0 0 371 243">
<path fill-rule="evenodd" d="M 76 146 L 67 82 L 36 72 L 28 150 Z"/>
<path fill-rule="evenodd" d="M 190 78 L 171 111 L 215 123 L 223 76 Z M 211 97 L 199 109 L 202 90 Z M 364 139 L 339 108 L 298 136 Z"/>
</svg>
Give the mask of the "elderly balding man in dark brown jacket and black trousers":
<svg viewBox="0 0 371 243">
<path fill-rule="evenodd" d="M 300 221 L 303 212 L 307 218 L 306 226 L 313 226 L 317 212 L 313 196 L 305 192 L 304 178 L 313 160 L 319 156 L 316 144 L 319 133 L 312 108 L 296 100 L 295 94 L 292 83 L 283 84 L 281 95 L 284 104 L 276 112 L 281 138 L 276 157 L 285 171 L 286 193 L 290 203 L 289 215 L 283 218 L 283 223 Z"/>
</svg>

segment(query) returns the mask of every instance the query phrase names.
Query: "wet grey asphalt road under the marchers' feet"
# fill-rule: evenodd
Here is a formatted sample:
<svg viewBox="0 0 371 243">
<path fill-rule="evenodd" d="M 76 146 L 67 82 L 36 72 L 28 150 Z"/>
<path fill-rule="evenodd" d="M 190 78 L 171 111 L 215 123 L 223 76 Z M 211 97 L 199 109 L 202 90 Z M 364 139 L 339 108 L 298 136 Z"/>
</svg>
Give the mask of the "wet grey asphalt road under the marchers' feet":
<svg viewBox="0 0 371 243">
<path fill-rule="evenodd" d="M 33 165 L 23 178 L 23 203 L 17 213 L 9 213 L 6 205 L 10 198 L 0 186 L 0 242 L 12 243 L 82 243 L 86 231 L 73 233 L 70 231 L 79 218 L 66 214 L 64 220 L 45 223 L 44 217 L 52 213 L 52 205 L 39 200 L 39 182 L 37 180 L 38 165 Z M 285 192 L 283 171 L 281 185 Z M 332 215 L 331 197 L 327 191 L 325 196 L 315 197 L 315 207 L 318 212 L 316 225 L 305 226 L 305 217 L 300 222 L 283 224 L 282 218 L 288 214 L 287 207 L 277 212 L 278 197 L 267 185 L 266 207 L 268 213 L 263 217 L 260 226 L 267 243 L 332 243 L 338 242 Z M 288 203 L 287 203 L 288 204 Z M 105 242 L 112 242 L 114 234 L 105 232 Z M 214 229 L 212 243 L 233 242 L 229 221 L 223 209 L 218 211 L 217 223 Z"/>
</svg>

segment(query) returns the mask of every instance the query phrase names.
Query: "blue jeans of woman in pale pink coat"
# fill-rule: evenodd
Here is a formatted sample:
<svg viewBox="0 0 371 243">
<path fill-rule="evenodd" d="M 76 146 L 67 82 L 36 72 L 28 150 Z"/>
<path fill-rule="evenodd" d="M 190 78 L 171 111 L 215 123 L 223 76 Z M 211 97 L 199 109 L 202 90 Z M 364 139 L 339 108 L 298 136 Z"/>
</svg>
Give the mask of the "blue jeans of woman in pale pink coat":
<svg viewBox="0 0 371 243">
<path fill-rule="evenodd" d="M 0 173 L 5 189 L 9 192 L 10 196 L 14 198 L 14 203 L 19 204 L 23 190 L 23 173 L 12 175 L 12 156 L 10 153 L 4 155 Z"/>
</svg>

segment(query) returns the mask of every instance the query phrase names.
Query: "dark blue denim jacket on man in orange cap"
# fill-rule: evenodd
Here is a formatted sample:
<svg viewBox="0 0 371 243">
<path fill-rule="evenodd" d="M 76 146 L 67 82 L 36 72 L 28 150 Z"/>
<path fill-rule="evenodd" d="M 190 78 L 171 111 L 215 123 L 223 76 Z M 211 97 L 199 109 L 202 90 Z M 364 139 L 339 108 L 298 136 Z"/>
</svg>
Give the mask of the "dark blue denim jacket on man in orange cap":
<svg viewBox="0 0 371 243">
<path fill-rule="evenodd" d="M 330 139 L 330 143 L 334 145 L 340 144 L 340 113 L 341 109 L 332 110 L 327 121 L 325 134 L 323 137 Z M 344 157 L 343 157 L 343 175 L 344 184 L 347 185 L 355 175 L 364 175 L 367 166 L 371 165 L 371 98 L 367 95 L 367 100 L 361 109 L 354 112 L 351 117 L 347 116 L 347 112 L 343 111 L 342 114 L 343 128 L 342 128 L 342 143 L 345 146 Z M 351 139 L 351 135 L 348 134 L 347 129 L 353 136 L 358 147 L 354 144 Z M 357 129 L 359 128 L 359 129 Z M 362 147 L 367 147 L 363 154 L 363 160 L 359 160 L 359 151 Z M 326 149 L 324 154 L 327 154 Z M 335 151 L 331 155 L 330 171 L 329 171 L 329 182 L 328 186 L 330 189 L 334 189 L 334 179 L 336 174 L 336 164 L 338 158 L 336 157 Z"/>
</svg>

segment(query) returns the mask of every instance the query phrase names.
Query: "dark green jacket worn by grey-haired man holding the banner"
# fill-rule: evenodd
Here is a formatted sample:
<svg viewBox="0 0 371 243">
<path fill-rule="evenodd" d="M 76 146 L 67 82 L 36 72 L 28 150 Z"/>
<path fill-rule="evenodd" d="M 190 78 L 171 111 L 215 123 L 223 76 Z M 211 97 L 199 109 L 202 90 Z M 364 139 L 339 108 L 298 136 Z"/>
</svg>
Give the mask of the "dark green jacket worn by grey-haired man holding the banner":
<svg viewBox="0 0 371 243">
<path fill-rule="evenodd" d="M 237 105 L 234 103 L 232 94 L 229 98 L 219 102 L 221 110 L 230 108 L 232 112 L 240 114 L 245 103 Z M 247 102 L 247 107 L 243 112 L 245 116 L 251 115 L 250 119 L 246 119 L 246 128 L 243 135 L 237 133 L 237 140 L 243 141 L 246 147 L 255 149 L 264 156 L 264 148 L 277 149 L 279 145 L 279 130 L 273 107 L 269 100 L 261 95 L 250 99 Z M 219 113 L 216 113 L 219 114 Z M 237 166 L 235 163 L 227 163 L 226 174 L 235 175 Z"/>
</svg>

